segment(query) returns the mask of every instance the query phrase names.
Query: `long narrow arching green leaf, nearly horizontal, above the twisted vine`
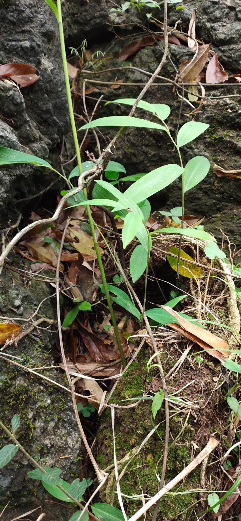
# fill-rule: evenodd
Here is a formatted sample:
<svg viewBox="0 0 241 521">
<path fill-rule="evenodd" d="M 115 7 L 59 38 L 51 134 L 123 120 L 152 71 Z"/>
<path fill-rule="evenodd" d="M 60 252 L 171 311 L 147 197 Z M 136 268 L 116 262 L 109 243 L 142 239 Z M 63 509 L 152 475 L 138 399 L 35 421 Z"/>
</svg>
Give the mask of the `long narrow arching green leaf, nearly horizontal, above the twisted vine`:
<svg viewBox="0 0 241 521">
<path fill-rule="evenodd" d="M 89 123 L 86 123 L 86 125 L 81 127 L 79 130 L 92 129 L 96 127 L 142 127 L 146 129 L 165 130 L 165 132 L 167 132 L 167 129 L 162 125 L 159 125 L 159 123 L 153 123 L 147 119 L 133 118 L 131 116 L 106 116 L 105 118 L 89 121 Z"/>
</svg>

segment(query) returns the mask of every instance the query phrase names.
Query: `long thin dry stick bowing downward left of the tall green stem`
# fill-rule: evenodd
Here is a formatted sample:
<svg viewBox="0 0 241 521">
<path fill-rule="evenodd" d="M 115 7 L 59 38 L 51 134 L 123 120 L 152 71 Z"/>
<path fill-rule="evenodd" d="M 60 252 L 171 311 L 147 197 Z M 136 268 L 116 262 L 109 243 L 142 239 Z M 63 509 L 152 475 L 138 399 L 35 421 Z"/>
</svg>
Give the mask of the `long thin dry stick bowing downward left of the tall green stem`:
<svg viewBox="0 0 241 521">
<path fill-rule="evenodd" d="M 60 268 L 60 257 L 61 257 L 61 253 L 62 253 L 62 249 L 63 249 L 63 243 L 64 243 L 64 239 L 65 239 L 65 234 L 66 234 L 66 231 L 67 231 L 68 226 L 69 226 L 69 221 L 70 221 L 70 218 L 67 219 L 67 222 L 66 222 L 66 225 L 65 225 L 65 228 L 64 228 L 64 231 L 63 231 L 61 244 L 60 244 L 59 255 L 58 255 L 57 268 L 56 268 L 56 300 L 57 300 L 57 317 L 58 317 L 60 349 L 61 349 L 61 355 L 62 355 L 62 359 L 63 359 L 63 365 L 64 365 L 66 377 L 68 379 L 68 382 L 69 382 L 69 385 L 70 385 L 70 389 L 71 389 L 71 395 L 72 395 L 72 400 L 73 400 L 74 412 L 75 412 L 75 417 L 76 417 L 76 421 L 77 421 L 77 424 L 78 424 L 78 428 L 79 428 L 79 431 L 81 432 L 81 436 L 82 436 L 83 442 L 85 444 L 85 448 L 87 450 L 87 453 L 88 453 L 88 455 L 90 457 L 90 461 L 91 461 L 93 467 L 95 468 L 97 477 L 98 477 L 99 481 L 103 483 L 105 481 L 106 477 L 108 476 L 108 474 L 102 472 L 102 470 L 98 467 L 98 465 L 97 465 L 97 463 L 95 461 L 95 458 L 93 458 L 92 452 L 91 452 L 91 450 L 89 448 L 89 444 L 88 444 L 88 441 L 86 439 L 86 436 L 85 436 L 85 433 L 84 433 L 84 430 L 83 430 L 83 427 L 82 427 L 82 424 L 81 424 L 81 420 L 79 419 L 77 405 L 76 405 L 76 401 L 75 401 L 74 385 L 73 385 L 71 377 L 70 377 L 68 365 L 66 364 L 66 359 L 65 359 L 65 354 L 64 354 L 64 346 L 63 346 L 63 339 L 62 339 L 61 319 L 60 319 L 60 299 L 59 299 L 59 268 Z"/>
</svg>

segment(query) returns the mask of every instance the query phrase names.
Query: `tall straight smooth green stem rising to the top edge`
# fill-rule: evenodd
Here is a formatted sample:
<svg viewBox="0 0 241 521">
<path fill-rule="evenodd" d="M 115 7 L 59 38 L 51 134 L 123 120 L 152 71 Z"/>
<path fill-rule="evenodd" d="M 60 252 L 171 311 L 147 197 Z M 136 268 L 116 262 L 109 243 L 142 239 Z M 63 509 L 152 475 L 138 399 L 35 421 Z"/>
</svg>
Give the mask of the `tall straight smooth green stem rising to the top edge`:
<svg viewBox="0 0 241 521">
<path fill-rule="evenodd" d="M 57 7 L 58 7 L 58 11 L 59 11 L 59 20 L 58 20 L 58 23 L 59 23 L 59 35 L 60 35 L 60 45 L 61 45 L 61 54 L 62 54 L 62 61 L 63 61 L 63 71 L 64 71 L 65 86 L 66 86 L 66 94 L 67 94 L 67 98 L 68 98 L 68 105 L 69 105 L 69 112 L 70 112 L 70 121 L 71 121 L 71 127 L 72 127 L 72 132 L 73 132 L 73 138 L 74 138 L 74 145 L 75 145 L 75 151 L 76 151 L 79 175 L 81 175 L 82 174 L 81 153 L 79 152 L 78 137 L 77 137 L 77 131 L 76 131 L 75 119 L 74 119 L 74 111 L 73 111 L 73 105 L 72 105 L 72 97 L 71 97 L 71 89 L 70 89 L 70 81 L 69 81 L 69 72 L 68 72 L 66 52 L 65 52 L 63 21 L 62 21 L 62 10 L 61 10 L 61 0 L 57 0 Z M 85 200 L 87 201 L 88 200 L 88 194 L 87 194 L 86 188 L 84 189 L 84 197 L 85 197 Z M 109 309 L 110 309 L 112 324 L 113 324 L 114 331 L 115 331 L 116 342 L 117 342 L 117 345 L 118 345 L 119 353 L 121 355 L 123 368 L 125 368 L 126 367 L 125 355 L 124 355 L 123 348 L 122 348 L 122 342 L 121 342 L 121 339 L 119 337 L 119 331 L 118 331 L 116 320 L 115 320 L 115 315 L 114 315 L 114 311 L 113 311 L 113 307 L 112 307 L 112 303 L 111 303 L 111 297 L 110 297 L 110 293 L 109 293 L 107 282 L 106 282 L 106 278 L 105 278 L 104 267 L 103 267 L 102 260 L 101 260 L 99 245 L 98 245 L 98 242 L 96 240 L 95 227 L 93 225 L 93 219 L 92 219 L 90 207 L 87 206 L 86 210 L 87 210 L 87 215 L 88 215 L 88 219 L 89 219 L 90 229 L 91 229 L 91 233 L 92 233 L 93 243 L 94 243 L 95 251 L 96 251 L 96 255 L 97 255 L 97 260 L 98 260 L 98 263 L 99 263 L 99 268 L 100 268 L 101 278 L 102 278 L 103 286 L 104 286 L 104 290 L 105 290 L 106 300 L 108 302 Z"/>
</svg>

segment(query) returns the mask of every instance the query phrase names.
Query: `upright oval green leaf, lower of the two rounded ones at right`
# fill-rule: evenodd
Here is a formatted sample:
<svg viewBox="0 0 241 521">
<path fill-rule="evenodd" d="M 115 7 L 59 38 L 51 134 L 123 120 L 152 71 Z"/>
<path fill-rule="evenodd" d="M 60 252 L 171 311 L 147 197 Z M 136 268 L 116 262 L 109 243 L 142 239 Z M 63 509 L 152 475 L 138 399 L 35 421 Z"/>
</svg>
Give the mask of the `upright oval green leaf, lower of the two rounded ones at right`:
<svg viewBox="0 0 241 521">
<path fill-rule="evenodd" d="M 190 159 L 182 174 L 184 193 L 203 181 L 209 172 L 209 168 L 209 160 L 204 156 L 196 156 Z"/>
</svg>

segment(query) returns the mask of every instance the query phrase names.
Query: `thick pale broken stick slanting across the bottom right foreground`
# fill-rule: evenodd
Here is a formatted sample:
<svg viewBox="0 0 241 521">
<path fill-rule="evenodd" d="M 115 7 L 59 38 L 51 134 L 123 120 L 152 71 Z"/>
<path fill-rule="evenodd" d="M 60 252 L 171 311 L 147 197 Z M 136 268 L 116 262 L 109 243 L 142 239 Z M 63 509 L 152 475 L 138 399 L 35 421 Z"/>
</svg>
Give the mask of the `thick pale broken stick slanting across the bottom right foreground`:
<svg viewBox="0 0 241 521">
<path fill-rule="evenodd" d="M 170 492 L 170 490 L 173 489 L 173 487 L 176 487 L 180 481 L 182 481 L 186 476 L 188 476 L 194 468 L 197 467 L 209 454 L 216 449 L 218 445 L 218 441 L 215 438 L 210 438 L 205 448 L 194 458 L 194 460 L 185 467 L 182 472 L 180 472 L 175 478 L 173 478 L 165 487 L 162 488 L 162 490 L 159 490 L 157 494 L 153 496 L 152 499 L 146 503 L 145 506 L 140 508 L 140 510 L 134 514 L 132 517 L 130 517 L 129 521 L 137 521 L 139 517 L 141 517 L 145 512 L 149 510 L 159 499 L 161 499 L 167 492 Z"/>
</svg>

